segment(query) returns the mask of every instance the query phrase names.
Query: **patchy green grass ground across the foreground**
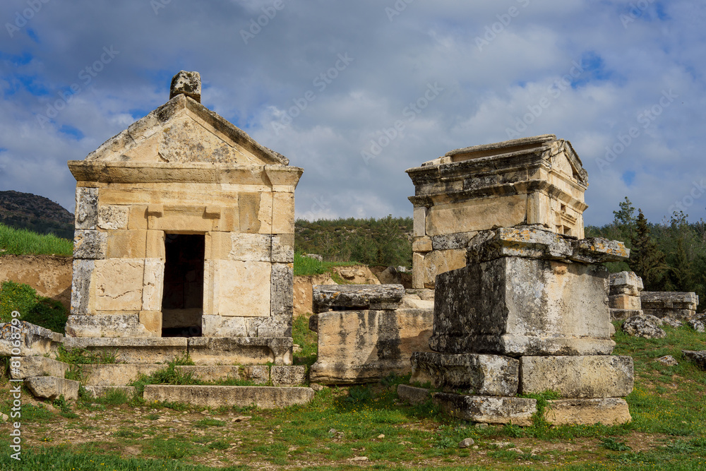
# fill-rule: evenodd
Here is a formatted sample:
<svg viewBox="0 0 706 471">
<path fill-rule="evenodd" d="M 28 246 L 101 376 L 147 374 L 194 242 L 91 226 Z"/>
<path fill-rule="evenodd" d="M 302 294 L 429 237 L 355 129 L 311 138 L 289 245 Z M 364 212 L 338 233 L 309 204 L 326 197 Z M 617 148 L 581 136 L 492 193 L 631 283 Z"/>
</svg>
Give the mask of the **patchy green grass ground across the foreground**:
<svg viewBox="0 0 706 471">
<path fill-rule="evenodd" d="M 619 325 L 618 325 L 619 327 Z M 665 328 L 661 340 L 618 329 L 616 354 L 635 359 L 633 422 L 617 427 L 475 427 L 448 419 L 431 403 L 397 401 L 406 378 L 324 388 L 306 406 L 285 410 L 146 404 L 112 395 L 23 406 L 23 461 L 0 455 L 2 470 L 706 470 L 706 372 L 681 356 L 706 350 L 706 335 Z M 303 350 L 316 335 L 294 323 Z M 678 366 L 654 359 L 673 355 Z M 0 390 L 9 397 L 8 386 Z M 28 395 L 24 395 L 28 401 Z M 4 400 L 2 412 L 10 412 Z M 8 424 L 0 426 L 8 450 Z M 472 438 L 477 448 L 457 448 Z M 366 459 L 364 459 L 364 458 Z"/>
</svg>

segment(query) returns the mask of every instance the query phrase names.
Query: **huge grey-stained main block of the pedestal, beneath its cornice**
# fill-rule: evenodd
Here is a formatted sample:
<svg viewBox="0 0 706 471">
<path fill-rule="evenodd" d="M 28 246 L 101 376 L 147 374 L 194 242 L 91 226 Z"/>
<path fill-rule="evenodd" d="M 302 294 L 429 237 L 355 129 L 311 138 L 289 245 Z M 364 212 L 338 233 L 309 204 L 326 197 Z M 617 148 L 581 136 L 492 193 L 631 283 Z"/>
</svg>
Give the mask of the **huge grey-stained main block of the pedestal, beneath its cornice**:
<svg viewBox="0 0 706 471">
<path fill-rule="evenodd" d="M 436 277 L 435 352 L 610 354 L 610 333 L 604 266 L 503 257 Z"/>
</svg>

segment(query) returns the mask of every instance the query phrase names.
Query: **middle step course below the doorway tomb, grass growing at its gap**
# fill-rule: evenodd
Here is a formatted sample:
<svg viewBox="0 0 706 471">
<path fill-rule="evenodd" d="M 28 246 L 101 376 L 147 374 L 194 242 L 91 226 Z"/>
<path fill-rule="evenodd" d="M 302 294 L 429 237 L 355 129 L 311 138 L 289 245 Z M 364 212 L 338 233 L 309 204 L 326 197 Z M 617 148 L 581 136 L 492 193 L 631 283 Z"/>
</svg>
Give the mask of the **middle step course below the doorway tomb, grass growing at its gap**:
<svg viewBox="0 0 706 471">
<path fill-rule="evenodd" d="M 150 375 L 166 368 L 165 364 L 90 364 L 84 366 L 88 386 L 127 386 L 140 374 Z M 272 382 L 274 386 L 298 386 L 306 383 L 306 366 L 281 365 L 184 365 L 177 371 L 191 373 L 201 381 L 223 381 L 227 379 L 253 381 L 258 384 Z M 34 375 L 39 376 L 39 375 Z"/>
</svg>

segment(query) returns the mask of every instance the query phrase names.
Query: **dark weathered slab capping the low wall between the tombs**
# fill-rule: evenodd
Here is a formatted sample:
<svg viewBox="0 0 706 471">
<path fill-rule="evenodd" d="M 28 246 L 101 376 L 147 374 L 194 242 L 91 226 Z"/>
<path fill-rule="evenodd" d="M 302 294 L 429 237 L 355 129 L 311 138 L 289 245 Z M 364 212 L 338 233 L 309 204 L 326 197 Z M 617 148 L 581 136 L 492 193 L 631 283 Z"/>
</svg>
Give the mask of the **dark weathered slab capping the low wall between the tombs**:
<svg viewBox="0 0 706 471">
<path fill-rule="evenodd" d="M 397 309 L 405 295 L 402 285 L 316 285 L 313 314 L 327 311 Z"/>
</svg>

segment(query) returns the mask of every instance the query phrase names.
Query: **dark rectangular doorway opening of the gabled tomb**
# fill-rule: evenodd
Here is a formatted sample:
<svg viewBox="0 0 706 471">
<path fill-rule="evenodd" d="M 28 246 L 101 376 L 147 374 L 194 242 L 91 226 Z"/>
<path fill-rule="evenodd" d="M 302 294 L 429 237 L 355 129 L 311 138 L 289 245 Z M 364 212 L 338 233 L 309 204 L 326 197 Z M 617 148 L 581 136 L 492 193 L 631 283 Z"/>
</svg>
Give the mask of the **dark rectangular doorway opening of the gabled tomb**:
<svg viewBox="0 0 706 471">
<path fill-rule="evenodd" d="M 201 337 L 203 314 L 203 234 L 164 238 L 162 337 Z"/>
</svg>

